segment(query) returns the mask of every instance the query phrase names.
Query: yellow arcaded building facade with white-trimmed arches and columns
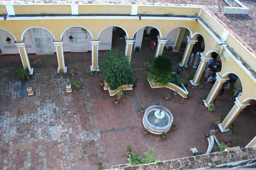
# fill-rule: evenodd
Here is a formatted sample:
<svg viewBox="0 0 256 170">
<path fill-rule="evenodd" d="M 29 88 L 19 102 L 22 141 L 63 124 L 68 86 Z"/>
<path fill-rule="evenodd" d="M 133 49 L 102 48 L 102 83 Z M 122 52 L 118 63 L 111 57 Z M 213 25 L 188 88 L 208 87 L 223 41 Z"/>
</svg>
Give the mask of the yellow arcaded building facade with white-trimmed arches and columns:
<svg viewBox="0 0 256 170">
<path fill-rule="evenodd" d="M 249 51 L 214 14 L 204 6 L 151 6 L 151 5 L 96 5 L 96 4 L 0 4 L 0 14 L 8 14 L 6 20 L 0 19 L 0 29 L 10 33 L 19 49 L 24 68 L 32 72 L 29 56 L 26 52 L 24 33 L 34 27 L 46 29 L 54 38 L 54 47 L 58 59 L 58 70 L 65 70 L 63 53 L 63 34 L 71 27 L 85 28 L 91 36 L 92 65 L 91 70 L 100 70 L 98 66 L 99 36 L 107 27 L 120 27 L 126 35 L 126 51 L 132 56 L 132 45 L 135 33 L 143 27 L 154 27 L 158 30 L 156 54 L 162 54 L 166 37 L 175 28 L 189 30 L 188 43 L 182 58 L 181 66 L 186 66 L 197 35 L 204 38 L 205 47 L 201 61 L 191 84 L 197 85 L 205 66 L 213 52 L 218 53 L 222 69 L 217 73 L 217 80 L 205 100 L 205 106 L 212 104 L 223 83 L 230 73 L 236 74 L 242 83 L 242 96 L 236 98 L 234 107 L 228 116 L 219 124 L 222 132 L 234 121 L 241 109 L 256 100 L 256 56 Z M 97 15 L 96 15 L 97 14 Z M 161 16 L 165 15 L 165 16 Z M 166 16 L 167 15 L 167 16 Z M 181 37 L 177 36 L 180 41 Z M 13 40 L 13 41 L 14 41 Z M 243 61 L 243 62 L 242 62 Z M 246 64 L 245 64 L 246 63 Z M 36 68 L 34 68 L 36 69 Z M 251 142 L 255 143 L 255 142 Z"/>
</svg>

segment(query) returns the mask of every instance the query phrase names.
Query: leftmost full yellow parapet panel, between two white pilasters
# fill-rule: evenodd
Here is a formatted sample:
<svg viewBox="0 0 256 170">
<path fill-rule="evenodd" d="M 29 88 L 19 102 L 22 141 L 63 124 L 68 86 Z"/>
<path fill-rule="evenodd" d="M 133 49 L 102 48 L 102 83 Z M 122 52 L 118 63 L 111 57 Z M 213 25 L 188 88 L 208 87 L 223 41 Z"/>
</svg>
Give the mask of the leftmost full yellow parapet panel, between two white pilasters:
<svg viewBox="0 0 256 170">
<path fill-rule="evenodd" d="M 71 14 L 70 5 L 14 5 L 15 14 Z"/>
</svg>

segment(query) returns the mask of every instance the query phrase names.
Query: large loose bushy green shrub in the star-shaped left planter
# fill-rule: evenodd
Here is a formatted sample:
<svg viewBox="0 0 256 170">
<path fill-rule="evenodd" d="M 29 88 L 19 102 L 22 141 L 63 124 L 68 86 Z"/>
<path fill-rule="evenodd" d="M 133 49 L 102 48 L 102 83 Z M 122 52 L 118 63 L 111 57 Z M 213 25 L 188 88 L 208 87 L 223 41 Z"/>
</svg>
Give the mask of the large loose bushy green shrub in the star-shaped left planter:
<svg viewBox="0 0 256 170">
<path fill-rule="evenodd" d="M 100 63 L 100 70 L 104 74 L 105 82 L 108 83 L 110 90 L 116 90 L 119 86 L 133 84 L 133 69 L 128 58 L 118 50 L 111 49 L 104 55 Z"/>
</svg>

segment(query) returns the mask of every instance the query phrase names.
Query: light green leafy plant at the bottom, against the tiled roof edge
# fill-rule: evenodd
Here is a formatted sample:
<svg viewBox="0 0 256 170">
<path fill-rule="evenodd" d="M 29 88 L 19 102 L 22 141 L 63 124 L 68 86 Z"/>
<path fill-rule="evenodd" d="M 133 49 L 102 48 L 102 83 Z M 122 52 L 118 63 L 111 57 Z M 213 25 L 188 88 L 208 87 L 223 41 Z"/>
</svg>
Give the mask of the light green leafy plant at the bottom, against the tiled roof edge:
<svg viewBox="0 0 256 170">
<path fill-rule="evenodd" d="M 160 155 L 159 155 L 160 156 Z M 154 148 L 148 147 L 148 151 L 144 152 L 142 150 L 141 154 L 130 154 L 130 158 L 127 159 L 127 163 L 130 163 L 131 166 L 138 164 L 148 164 L 153 162 L 160 162 L 159 156 L 154 157 Z"/>
</svg>

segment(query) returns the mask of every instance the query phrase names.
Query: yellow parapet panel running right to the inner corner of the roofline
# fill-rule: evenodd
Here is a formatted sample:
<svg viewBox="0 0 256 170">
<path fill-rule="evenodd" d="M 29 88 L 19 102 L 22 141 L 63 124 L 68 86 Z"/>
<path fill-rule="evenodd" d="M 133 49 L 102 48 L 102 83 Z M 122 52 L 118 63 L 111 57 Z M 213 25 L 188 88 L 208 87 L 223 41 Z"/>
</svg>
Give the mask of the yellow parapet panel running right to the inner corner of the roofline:
<svg viewBox="0 0 256 170">
<path fill-rule="evenodd" d="M 139 6 L 138 14 L 166 14 L 166 15 L 184 15 L 195 16 L 200 12 L 200 8 L 179 8 L 179 7 L 164 7 L 164 6 Z"/>
</svg>

